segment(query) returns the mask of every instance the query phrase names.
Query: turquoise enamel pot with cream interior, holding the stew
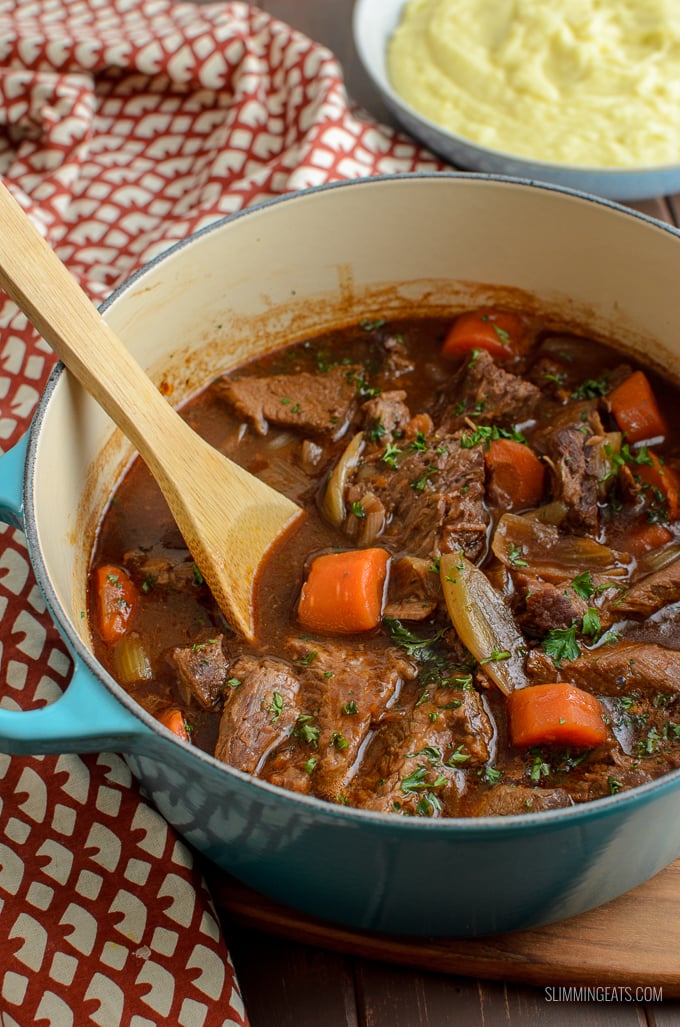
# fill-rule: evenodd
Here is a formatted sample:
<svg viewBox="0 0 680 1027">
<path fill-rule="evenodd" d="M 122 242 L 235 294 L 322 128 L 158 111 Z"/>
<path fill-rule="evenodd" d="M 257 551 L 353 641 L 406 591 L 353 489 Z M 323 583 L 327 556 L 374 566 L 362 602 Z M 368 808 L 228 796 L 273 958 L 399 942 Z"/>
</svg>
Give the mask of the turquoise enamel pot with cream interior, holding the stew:
<svg viewBox="0 0 680 1027">
<path fill-rule="evenodd" d="M 608 201 L 486 176 L 406 176 L 298 193 L 220 222 L 134 276 L 105 317 L 177 403 L 294 338 L 494 299 L 589 325 L 675 375 L 679 280 L 678 233 Z M 4 700 L 0 749 L 121 752 L 167 821 L 221 867 L 360 928 L 525 928 L 606 902 L 680 854 L 680 771 L 568 809 L 421 820 L 284 792 L 177 740 L 101 669 L 81 616 L 93 533 L 129 458 L 58 367 L 27 436 L 0 461 L 0 515 L 24 528 L 75 664 L 51 706 L 23 713 Z"/>
</svg>

